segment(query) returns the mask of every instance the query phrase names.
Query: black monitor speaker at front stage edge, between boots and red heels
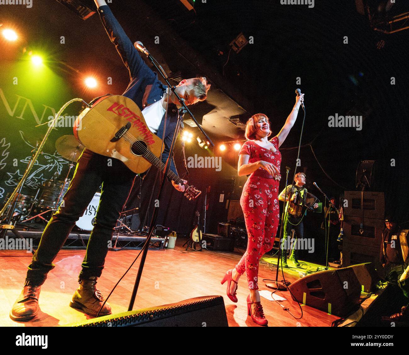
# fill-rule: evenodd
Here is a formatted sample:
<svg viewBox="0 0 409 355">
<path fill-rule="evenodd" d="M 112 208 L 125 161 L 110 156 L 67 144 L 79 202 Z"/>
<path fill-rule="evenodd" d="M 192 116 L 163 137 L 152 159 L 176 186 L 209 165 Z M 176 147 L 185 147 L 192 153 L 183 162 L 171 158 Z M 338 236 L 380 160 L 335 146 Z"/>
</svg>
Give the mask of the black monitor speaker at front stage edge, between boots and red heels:
<svg viewBox="0 0 409 355">
<path fill-rule="evenodd" d="M 130 312 L 106 315 L 74 327 L 227 327 L 222 296 L 202 296 Z"/>
</svg>

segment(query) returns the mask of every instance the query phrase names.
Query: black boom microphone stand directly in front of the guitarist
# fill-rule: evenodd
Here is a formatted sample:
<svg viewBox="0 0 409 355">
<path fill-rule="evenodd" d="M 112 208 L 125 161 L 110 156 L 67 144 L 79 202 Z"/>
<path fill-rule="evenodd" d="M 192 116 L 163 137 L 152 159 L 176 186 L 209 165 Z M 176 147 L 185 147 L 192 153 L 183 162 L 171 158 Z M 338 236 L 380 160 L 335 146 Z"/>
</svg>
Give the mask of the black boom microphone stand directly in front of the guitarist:
<svg viewBox="0 0 409 355">
<path fill-rule="evenodd" d="M 187 105 L 184 103 L 184 99 L 181 98 L 178 95 L 178 93 L 176 92 L 176 87 L 171 85 L 169 77 L 166 75 L 166 73 L 162 69 L 161 65 L 155 60 L 155 58 L 153 58 L 153 56 L 151 56 L 150 53 L 148 53 L 147 51 L 144 52 L 144 53 L 147 55 L 148 59 L 151 61 L 151 63 L 157 69 L 157 71 L 160 72 L 160 74 L 162 75 L 162 77 L 164 78 L 166 83 L 168 84 L 168 87 L 171 89 L 173 94 L 179 100 L 182 107 L 180 107 L 180 109 L 178 109 L 178 123 L 176 124 L 175 134 L 173 134 L 172 144 L 171 144 L 171 147 L 170 147 L 170 150 L 169 150 L 169 158 L 168 158 L 168 161 L 166 161 L 166 164 L 165 164 L 165 167 L 164 167 L 165 168 L 165 170 L 164 170 L 164 179 L 162 179 L 162 183 L 160 185 L 159 192 L 158 192 L 158 195 L 157 195 L 157 200 L 159 201 L 159 203 L 155 204 L 155 207 L 153 208 L 153 216 L 152 216 L 152 219 L 151 219 L 151 225 L 149 226 L 148 237 L 146 238 L 146 242 L 145 242 L 144 246 L 142 247 L 143 248 L 142 258 L 141 258 L 141 262 L 139 263 L 138 273 L 137 273 L 137 277 L 135 279 L 135 284 L 134 284 L 134 287 L 133 287 L 133 290 L 132 290 L 132 295 L 131 295 L 131 298 L 130 298 L 130 301 L 129 301 L 128 311 L 133 309 L 133 305 L 135 303 L 136 294 L 138 292 L 139 283 L 140 283 L 141 277 L 142 277 L 142 271 L 144 270 L 146 255 L 148 253 L 149 243 L 150 243 L 151 238 L 152 238 L 153 228 L 155 226 L 157 214 L 159 212 L 159 207 L 157 207 L 157 205 L 160 205 L 160 199 L 162 197 L 162 190 L 164 188 L 166 176 L 168 174 L 169 167 L 171 165 L 170 162 L 171 162 L 171 157 L 173 156 L 173 149 L 175 147 L 176 138 L 178 137 L 180 126 L 183 124 L 183 120 L 182 120 L 183 115 L 186 112 L 189 113 L 189 115 L 193 118 L 193 121 L 195 121 L 195 123 L 199 127 L 200 131 L 206 137 L 207 141 L 209 141 L 209 144 L 212 147 L 214 147 L 214 144 L 211 141 L 211 139 L 209 138 L 209 136 L 205 133 L 205 131 L 202 129 L 202 127 L 200 127 L 198 121 L 196 121 L 195 116 L 193 116 L 191 111 L 188 109 Z M 169 100 L 169 94 L 168 94 L 168 100 Z M 160 163 L 160 166 L 162 167 L 162 162 Z M 160 169 L 160 170 L 162 170 L 162 169 Z"/>
</svg>

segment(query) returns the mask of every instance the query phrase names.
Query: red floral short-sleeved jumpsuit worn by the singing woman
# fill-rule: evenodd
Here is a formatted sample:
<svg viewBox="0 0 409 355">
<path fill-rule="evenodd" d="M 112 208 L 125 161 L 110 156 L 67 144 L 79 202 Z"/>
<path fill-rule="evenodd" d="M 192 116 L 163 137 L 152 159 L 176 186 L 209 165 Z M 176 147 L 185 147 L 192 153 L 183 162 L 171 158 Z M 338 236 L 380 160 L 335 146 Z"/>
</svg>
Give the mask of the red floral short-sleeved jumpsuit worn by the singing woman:
<svg viewBox="0 0 409 355">
<path fill-rule="evenodd" d="M 254 141 L 247 141 L 238 154 L 248 154 L 249 163 L 268 161 L 280 170 L 281 153 L 278 138 L 274 137 L 270 142 L 276 148 L 276 152 L 263 148 Z M 275 180 L 266 170 L 259 167 L 247 179 L 240 198 L 248 242 L 247 250 L 236 265 L 236 270 L 240 275 L 246 272 L 249 288 L 253 290 L 258 290 L 258 261 L 265 252 L 273 248 L 279 225 L 279 183 L 279 180 Z"/>
</svg>

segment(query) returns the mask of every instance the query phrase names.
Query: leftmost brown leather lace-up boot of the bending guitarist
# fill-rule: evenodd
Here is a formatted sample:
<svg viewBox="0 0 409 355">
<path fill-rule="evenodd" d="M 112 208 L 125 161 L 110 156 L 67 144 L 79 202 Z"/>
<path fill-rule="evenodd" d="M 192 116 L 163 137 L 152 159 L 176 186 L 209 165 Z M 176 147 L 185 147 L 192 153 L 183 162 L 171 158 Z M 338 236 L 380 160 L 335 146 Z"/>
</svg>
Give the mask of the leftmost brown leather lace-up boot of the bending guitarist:
<svg viewBox="0 0 409 355">
<path fill-rule="evenodd" d="M 13 321 L 27 322 L 37 315 L 40 310 L 38 306 L 40 290 L 41 286 L 24 286 L 10 311 L 10 318 Z"/>
</svg>

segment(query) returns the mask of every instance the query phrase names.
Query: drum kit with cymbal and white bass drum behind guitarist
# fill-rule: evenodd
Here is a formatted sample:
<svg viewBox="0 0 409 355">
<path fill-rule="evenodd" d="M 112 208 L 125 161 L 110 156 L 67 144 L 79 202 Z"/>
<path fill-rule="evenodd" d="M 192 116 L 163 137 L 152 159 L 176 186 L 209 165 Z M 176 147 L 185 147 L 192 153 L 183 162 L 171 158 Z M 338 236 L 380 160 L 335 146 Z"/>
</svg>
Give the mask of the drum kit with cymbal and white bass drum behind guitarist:
<svg viewBox="0 0 409 355">
<path fill-rule="evenodd" d="M 63 158 L 70 161 L 67 176 L 64 180 L 60 179 L 58 173 L 45 181 L 43 185 L 38 188 L 35 196 L 17 195 L 16 207 L 13 212 L 13 220 L 16 222 L 33 222 L 43 220 L 48 222 L 51 215 L 58 210 L 59 205 L 63 201 L 65 192 L 67 192 L 70 186 L 70 173 L 76 162 L 81 156 L 84 146 L 80 144 L 74 136 L 66 135 L 61 136 L 56 140 L 55 147 L 57 152 L 63 156 Z M 4 202 L 8 201 L 11 193 L 7 194 Z M 95 214 L 99 205 L 101 193 L 97 192 L 94 198 L 88 205 L 83 216 L 77 221 L 78 228 L 83 230 L 92 230 Z M 7 206 L 5 215 L 10 212 L 11 204 Z M 48 218 L 48 219 L 47 219 Z"/>
</svg>

